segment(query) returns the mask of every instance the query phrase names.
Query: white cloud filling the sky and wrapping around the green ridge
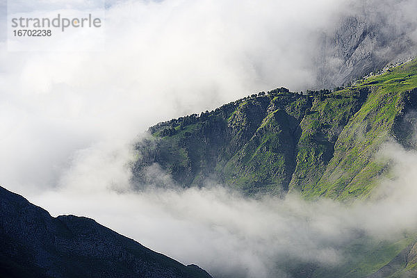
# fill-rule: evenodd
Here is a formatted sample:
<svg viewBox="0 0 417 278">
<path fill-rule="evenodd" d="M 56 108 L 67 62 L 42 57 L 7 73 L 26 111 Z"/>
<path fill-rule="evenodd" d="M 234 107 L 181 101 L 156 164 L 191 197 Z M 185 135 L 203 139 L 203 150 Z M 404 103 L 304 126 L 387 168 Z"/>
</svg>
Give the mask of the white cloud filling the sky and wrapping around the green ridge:
<svg viewBox="0 0 417 278">
<path fill-rule="evenodd" d="M 315 86 L 320 38 L 345 16 L 384 18 L 392 28 L 417 37 L 416 28 L 409 28 L 416 23 L 413 1 L 375 3 L 0 1 L 0 184 L 52 215 L 95 218 L 218 275 L 270 277 L 272 270 L 280 271 L 276 258 L 288 252 L 306 261 L 338 263 L 336 238 L 349 239 L 338 227 L 350 231 L 378 219 L 365 215 L 354 221 L 364 204 L 345 208 L 327 201 L 307 204 L 297 197 L 252 200 L 215 184 L 203 190 L 135 193 L 129 163 L 133 142 L 157 122 L 210 111 L 254 92 Z M 56 33 L 58 40 L 31 38 L 20 48 L 10 42 L 7 16 L 12 13 L 90 10 L 104 17 L 100 30 Z M 401 16 L 386 17 L 391 13 Z M 386 147 L 386 154 L 395 156 L 393 149 L 401 158 L 416 159 L 395 144 Z M 328 214 L 329 207 L 334 213 Z M 416 209 L 410 207 L 405 216 L 414 217 Z M 381 204 L 369 209 L 378 211 Z M 402 218 L 392 219 L 409 228 Z M 365 229 L 375 233 L 383 224 L 375 220 Z M 384 230 L 390 234 L 396 222 L 388 226 Z M 300 245 L 293 245 L 295 238 L 302 238 Z M 276 248 L 270 248 L 272 242 Z M 237 251 L 241 256 L 234 256 Z"/>
</svg>

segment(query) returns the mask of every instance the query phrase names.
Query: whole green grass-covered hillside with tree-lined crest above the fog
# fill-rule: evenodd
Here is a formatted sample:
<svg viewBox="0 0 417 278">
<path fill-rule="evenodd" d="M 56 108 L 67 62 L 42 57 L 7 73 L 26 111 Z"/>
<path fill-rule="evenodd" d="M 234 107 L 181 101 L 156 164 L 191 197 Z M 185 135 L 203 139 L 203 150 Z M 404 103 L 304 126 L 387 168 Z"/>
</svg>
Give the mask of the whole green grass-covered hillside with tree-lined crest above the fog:
<svg viewBox="0 0 417 278">
<path fill-rule="evenodd" d="M 157 163 L 181 186 L 212 179 L 247 194 L 366 196 L 389 172 L 375 154 L 389 138 L 414 147 L 417 61 L 338 90 L 279 88 L 149 128 L 138 142 L 136 180 Z M 407 116 L 407 117 L 406 117 Z"/>
</svg>

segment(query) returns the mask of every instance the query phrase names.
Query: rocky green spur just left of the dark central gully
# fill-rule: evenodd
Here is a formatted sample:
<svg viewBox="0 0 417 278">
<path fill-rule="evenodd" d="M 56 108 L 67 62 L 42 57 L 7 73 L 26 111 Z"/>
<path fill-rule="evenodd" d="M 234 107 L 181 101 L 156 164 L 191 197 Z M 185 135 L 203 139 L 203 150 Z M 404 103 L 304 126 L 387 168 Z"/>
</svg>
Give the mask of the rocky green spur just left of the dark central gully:
<svg viewBox="0 0 417 278">
<path fill-rule="evenodd" d="M 305 97 L 293 94 L 271 99 L 256 131 L 223 168 L 225 181 L 247 192 L 286 190 L 295 166 L 297 126 L 308 106 Z M 231 117 L 229 126 L 234 122 Z"/>
</svg>

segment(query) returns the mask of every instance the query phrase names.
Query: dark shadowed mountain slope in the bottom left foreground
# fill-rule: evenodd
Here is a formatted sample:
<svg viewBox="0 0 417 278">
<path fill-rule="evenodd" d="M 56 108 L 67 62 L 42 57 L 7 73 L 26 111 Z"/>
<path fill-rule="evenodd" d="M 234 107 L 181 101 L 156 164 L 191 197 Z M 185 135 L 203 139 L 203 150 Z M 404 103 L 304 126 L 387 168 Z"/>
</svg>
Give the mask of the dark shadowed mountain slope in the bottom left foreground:
<svg viewBox="0 0 417 278">
<path fill-rule="evenodd" d="M 0 187 L 0 277 L 211 277 L 95 220 L 51 217 Z"/>
</svg>

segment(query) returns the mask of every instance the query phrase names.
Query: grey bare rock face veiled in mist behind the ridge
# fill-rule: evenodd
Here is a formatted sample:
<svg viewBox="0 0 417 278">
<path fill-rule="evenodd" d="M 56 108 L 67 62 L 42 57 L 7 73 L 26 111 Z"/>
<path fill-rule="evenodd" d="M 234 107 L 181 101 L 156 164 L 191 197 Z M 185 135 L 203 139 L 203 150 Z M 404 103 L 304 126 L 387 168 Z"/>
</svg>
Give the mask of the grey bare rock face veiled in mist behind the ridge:
<svg viewBox="0 0 417 278">
<path fill-rule="evenodd" d="M 398 19 L 400 21 L 401 19 Z M 350 16 L 333 33 L 322 35 L 318 87 L 333 88 L 355 81 L 390 63 L 416 56 L 415 24 L 397 24 L 389 15 Z"/>
</svg>

